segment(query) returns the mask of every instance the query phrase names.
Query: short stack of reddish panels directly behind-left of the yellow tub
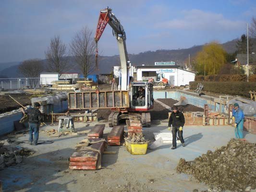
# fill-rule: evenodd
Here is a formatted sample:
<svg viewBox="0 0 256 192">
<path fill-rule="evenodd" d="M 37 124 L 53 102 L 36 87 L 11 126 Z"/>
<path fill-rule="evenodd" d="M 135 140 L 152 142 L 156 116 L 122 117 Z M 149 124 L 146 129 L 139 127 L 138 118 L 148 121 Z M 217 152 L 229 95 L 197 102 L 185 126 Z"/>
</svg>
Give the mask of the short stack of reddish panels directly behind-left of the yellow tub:
<svg viewBox="0 0 256 192">
<path fill-rule="evenodd" d="M 123 138 L 123 126 L 114 126 L 108 134 L 108 144 L 109 145 L 121 145 Z"/>
</svg>

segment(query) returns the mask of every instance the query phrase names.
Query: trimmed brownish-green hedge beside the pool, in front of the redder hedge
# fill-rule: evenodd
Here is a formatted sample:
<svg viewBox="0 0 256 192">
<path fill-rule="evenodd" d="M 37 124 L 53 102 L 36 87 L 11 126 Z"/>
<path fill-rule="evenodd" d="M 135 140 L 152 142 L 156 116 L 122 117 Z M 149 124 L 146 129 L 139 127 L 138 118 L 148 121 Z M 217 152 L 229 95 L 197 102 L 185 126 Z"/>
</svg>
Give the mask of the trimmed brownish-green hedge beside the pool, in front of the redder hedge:
<svg viewBox="0 0 256 192">
<path fill-rule="evenodd" d="M 195 90 L 197 84 L 204 85 L 202 92 L 209 91 L 220 94 L 250 97 L 249 91 L 256 91 L 256 82 L 189 82 L 190 89 Z"/>
</svg>

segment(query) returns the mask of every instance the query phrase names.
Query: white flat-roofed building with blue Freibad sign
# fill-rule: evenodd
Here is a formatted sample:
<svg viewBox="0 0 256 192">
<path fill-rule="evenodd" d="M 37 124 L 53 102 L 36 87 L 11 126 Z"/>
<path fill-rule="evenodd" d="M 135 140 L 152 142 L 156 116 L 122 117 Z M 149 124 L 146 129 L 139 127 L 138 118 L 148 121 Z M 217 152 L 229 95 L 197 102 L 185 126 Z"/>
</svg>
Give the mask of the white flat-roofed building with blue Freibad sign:
<svg viewBox="0 0 256 192">
<path fill-rule="evenodd" d="M 195 81 L 195 72 L 179 68 L 178 65 L 144 65 L 137 67 L 137 81 L 147 79 L 146 77 L 162 76 L 168 79 L 169 85 L 180 86 Z"/>
</svg>

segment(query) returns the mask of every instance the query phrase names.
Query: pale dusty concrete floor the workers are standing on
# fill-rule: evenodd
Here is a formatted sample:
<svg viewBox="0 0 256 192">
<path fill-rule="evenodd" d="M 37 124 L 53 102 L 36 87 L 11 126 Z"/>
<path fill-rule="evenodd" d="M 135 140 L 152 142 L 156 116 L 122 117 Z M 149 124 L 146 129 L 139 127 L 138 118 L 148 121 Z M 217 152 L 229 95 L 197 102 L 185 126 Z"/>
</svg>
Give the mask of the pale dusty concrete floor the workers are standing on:
<svg viewBox="0 0 256 192">
<path fill-rule="evenodd" d="M 95 123 L 85 126 L 75 123 L 77 131 L 89 130 Z M 44 130 L 57 130 L 47 126 Z M 104 137 L 111 128 L 106 127 Z M 126 130 L 126 127 L 125 127 Z M 153 140 L 153 132 L 168 132 L 167 122 L 153 122 L 151 128 L 143 128 L 146 138 Z M 256 135 L 244 132 L 249 142 L 256 142 Z M 207 150 L 226 145 L 234 137 L 231 126 L 185 126 L 185 147 L 177 144 L 176 150 L 164 144 L 146 155 L 133 156 L 124 146 L 109 146 L 115 155 L 103 155 L 100 170 L 69 170 L 63 162 L 72 155 L 75 145 L 85 138 L 77 136 L 48 137 L 39 133 L 39 140 L 54 141 L 52 144 L 23 147 L 36 150 L 33 156 L 21 164 L 0 171 L 4 192 L 192 192 L 207 190 L 209 186 L 197 182 L 189 175 L 177 174 L 176 165 L 180 158 L 193 160 Z M 12 135 L 12 139 L 24 141 L 27 134 Z M 61 163 L 60 163 L 61 161 Z"/>
</svg>

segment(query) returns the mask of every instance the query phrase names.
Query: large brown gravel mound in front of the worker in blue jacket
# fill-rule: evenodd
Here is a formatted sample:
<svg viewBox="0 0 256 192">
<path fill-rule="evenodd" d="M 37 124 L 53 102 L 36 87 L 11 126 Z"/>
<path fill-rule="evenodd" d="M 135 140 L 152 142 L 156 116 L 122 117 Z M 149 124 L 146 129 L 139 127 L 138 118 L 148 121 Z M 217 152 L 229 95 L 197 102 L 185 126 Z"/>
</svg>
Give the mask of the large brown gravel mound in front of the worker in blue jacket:
<svg viewBox="0 0 256 192">
<path fill-rule="evenodd" d="M 256 189 L 256 144 L 231 139 L 227 146 L 207 151 L 194 161 L 181 158 L 176 169 L 223 191 L 240 192 L 248 186 Z"/>
</svg>

